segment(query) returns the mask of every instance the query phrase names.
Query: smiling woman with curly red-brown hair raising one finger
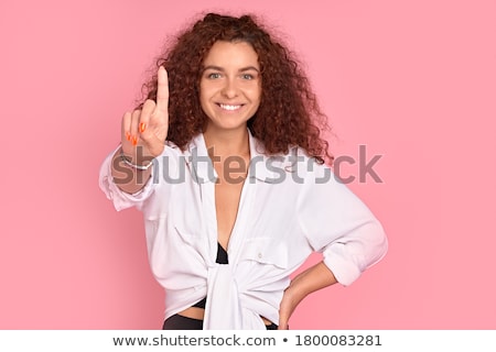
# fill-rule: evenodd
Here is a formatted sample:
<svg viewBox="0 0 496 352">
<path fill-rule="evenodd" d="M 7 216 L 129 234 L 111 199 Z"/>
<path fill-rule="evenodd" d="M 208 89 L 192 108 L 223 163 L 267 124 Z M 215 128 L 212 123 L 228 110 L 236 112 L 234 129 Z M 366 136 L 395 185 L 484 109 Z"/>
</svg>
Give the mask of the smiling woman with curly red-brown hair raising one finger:
<svg viewBox="0 0 496 352">
<path fill-rule="evenodd" d="M 288 329 L 304 297 L 385 255 L 380 223 L 331 170 L 309 80 L 252 16 L 205 15 L 144 87 L 100 187 L 143 212 L 164 329 Z"/>
</svg>

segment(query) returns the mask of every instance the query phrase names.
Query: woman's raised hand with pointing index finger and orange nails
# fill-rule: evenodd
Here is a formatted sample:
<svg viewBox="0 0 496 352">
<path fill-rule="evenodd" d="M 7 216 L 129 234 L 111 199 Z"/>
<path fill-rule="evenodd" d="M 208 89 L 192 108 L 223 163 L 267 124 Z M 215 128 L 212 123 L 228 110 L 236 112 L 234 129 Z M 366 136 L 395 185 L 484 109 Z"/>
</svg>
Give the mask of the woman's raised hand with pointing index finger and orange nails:
<svg viewBox="0 0 496 352">
<path fill-rule="evenodd" d="M 162 154 L 169 129 L 169 79 L 163 66 L 158 73 L 157 102 L 144 101 L 142 109 L 122 117 L 121 145 L 136 163 Z M 138 146 L 141 147 L 137 152 Z M 139 156 L 138 156 L 139 155 Z"/>
</svg>

